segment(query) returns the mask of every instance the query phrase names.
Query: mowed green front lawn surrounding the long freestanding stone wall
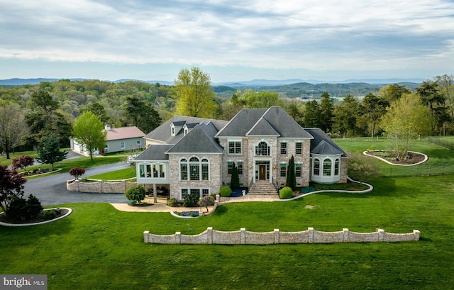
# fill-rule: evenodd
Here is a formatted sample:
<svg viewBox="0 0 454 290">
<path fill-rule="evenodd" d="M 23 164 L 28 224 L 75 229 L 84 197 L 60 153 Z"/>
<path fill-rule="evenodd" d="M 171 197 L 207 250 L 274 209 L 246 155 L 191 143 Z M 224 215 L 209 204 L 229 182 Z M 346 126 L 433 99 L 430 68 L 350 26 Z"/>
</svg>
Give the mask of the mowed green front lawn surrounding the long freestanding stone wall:
<svg viewBox="0 0 454 290">
<path fill-rule="evenodd" d="M 212 216 L 125 213 L 66 205 L 47 225 L 0 226 L 2 273 L 48 274 L 48 289 L 448 289 L 454 284 L 452 176 L 382 177 L 370 194 L 232 203 Z M 311 205 L 311 207 L 306 207 Z M 418 242 L 313 245 L 150 245 L 150 233 L 216 230 L 421 230 Z"/>
</svg>

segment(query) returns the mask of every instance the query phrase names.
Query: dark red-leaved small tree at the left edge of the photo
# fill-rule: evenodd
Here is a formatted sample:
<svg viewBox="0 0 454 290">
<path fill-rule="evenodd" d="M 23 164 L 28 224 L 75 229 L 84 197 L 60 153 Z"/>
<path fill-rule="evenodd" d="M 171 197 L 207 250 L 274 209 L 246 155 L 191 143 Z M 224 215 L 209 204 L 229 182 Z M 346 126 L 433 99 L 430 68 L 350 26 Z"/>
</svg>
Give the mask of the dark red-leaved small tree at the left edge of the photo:
<svg viewBox="0 0 454 290">
<path fill-rule="evenodd" d="M 23 196 L 23 184 L 27 179 L 18 174 L 16 170 L 10 170 L 6 165 L 0 165 L 0 207 L 4 211 L 4 215 L 9 208 L 9 203 L 14 198 Z"/>
</svg>

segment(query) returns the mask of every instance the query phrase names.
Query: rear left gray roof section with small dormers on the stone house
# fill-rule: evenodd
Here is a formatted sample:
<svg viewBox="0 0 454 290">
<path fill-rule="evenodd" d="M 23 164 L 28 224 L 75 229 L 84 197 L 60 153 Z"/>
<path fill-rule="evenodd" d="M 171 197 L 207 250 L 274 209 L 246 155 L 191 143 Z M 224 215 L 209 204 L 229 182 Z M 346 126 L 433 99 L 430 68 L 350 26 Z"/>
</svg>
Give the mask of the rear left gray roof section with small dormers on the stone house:
<svg viewBox="0 0 454 290">
<path fill-rule="evenodd" d="M 206 118 L 197 118 L 197 117 L 188 117 L 188 116 L 173 116 L 169 120 L 165 121 L 162 123 L 161 126 L 155 128 L 155 130 L 151 131 L 147 135 L 145 135 L 145 139 L 151 139 L 151 140 L 159 140 L 163 143 L 167 144 L 177 144 L 179 140 L 182 140 L 184 137 L 184 132 L 183 130 L 180 130 L 178 132 L 175 132 L 175 136 L 172 136 L 172 133 L 170 131 L 170 126 L 172 126 L 172 123 L 174 123 L 174 126 L 179 127 L 179 126 L 184 126 L 184 124 L 192 124 L 192 123 L 212 123 L 214 127 L 217 130 L 221 130 L 223 126 L 226 126 L 228 121 L 223 121 L 223 120 L 214 120 L 214 119 L 206 119 Z"/>
</svg>

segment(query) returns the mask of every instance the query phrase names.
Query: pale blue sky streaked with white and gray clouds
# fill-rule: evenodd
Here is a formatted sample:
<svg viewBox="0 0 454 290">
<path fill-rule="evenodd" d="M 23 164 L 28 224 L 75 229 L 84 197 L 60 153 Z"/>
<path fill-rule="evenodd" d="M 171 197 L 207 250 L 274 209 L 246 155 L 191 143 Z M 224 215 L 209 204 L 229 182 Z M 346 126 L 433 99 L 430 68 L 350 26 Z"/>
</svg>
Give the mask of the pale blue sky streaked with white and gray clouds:
<svg viewBox="0 0 454 290">
<path fill-rule="evenodd" d="M 0 0 L 0 79 L 454 73 L 453 0 Z"/>
</svg>

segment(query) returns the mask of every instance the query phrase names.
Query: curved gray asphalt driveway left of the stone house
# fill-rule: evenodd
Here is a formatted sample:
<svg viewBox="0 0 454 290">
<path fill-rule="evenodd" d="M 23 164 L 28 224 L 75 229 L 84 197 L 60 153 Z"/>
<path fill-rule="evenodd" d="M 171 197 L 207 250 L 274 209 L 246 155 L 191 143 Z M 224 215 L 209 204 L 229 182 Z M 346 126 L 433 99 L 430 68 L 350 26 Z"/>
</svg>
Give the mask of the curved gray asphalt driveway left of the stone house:
<svg viewBox="0 0 454 290">
<path fill-rule="evenodd" d="M 127 168 L 126 162 L 101 165 L 85 169 L 86 176 L 111 172 L 118 169 Z M 30 179 L 26 182 L 23 197 L 28 198 L 30 194 L 36 196 L 43 206 L 53 206 L 63 203 L 78 202 L 101 202 L 101 203 L 126 203 L 124 194 L 92 194 L 84 192 L 68 191 L 66 189 L 67 180 L 72 179 L 68 172 L 54 174 L 47 177 Z"/>
</svg>

